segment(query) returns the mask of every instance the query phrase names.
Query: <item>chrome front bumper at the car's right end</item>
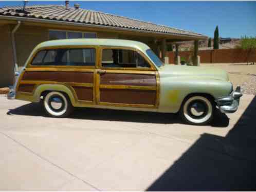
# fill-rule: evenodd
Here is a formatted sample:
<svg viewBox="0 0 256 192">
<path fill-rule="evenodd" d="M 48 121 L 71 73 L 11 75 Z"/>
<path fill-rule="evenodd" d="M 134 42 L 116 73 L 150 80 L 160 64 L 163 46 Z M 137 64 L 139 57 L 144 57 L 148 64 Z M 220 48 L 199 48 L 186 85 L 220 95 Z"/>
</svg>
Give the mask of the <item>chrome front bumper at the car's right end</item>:
<svg viewBox="0 0 256 192">
<path fill-rule="evenodd" d="M 234 113 L 239 106 L 242 95 L 241 88 L 238 86 L 228 97 L 217 99 L 217 106 L 222 113 Z"/>
</svg>

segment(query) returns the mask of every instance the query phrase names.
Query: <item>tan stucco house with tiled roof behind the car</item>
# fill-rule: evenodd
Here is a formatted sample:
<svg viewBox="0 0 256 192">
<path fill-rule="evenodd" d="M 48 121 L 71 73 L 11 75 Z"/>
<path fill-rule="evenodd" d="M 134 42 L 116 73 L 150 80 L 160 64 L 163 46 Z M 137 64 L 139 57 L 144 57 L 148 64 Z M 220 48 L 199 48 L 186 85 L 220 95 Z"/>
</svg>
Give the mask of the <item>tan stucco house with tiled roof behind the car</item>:
<svg viewBox="0 0 256 192">
<path fill-rule="evenodd" d="M 69 7 L 68 1 L 65 1 L 63 6 L 2 7 L 0 34 L 2 69 L 0 87 L 13 83 L 14 69 L 17 68 L 15 66 L 23 66 L 32 49 L 46 40 L 63 38 L 138 40 L 147 44 L 157 55 L 161 55 L 163 61 L 166 57 L 167 44 L 194 40 L 196 63 L 198 40 L 207 38 L 202 34 L 186 30 L 81 9 L 78 4 Z"/>
</svg>

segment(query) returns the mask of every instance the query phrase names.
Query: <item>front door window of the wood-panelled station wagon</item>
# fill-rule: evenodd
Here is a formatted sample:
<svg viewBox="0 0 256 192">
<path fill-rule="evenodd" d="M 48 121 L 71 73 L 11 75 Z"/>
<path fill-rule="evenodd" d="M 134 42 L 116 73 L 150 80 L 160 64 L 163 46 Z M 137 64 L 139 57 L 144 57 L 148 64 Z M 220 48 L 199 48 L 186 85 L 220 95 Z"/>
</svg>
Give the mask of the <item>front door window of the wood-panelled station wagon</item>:
<svg viewBox="0 0 256 192">
<path fill-rule="evenodd" d="M 150 65 L 136 51 L 125 49 L 103 49 L 102 67 L 150 68 Z"/>
</svg>

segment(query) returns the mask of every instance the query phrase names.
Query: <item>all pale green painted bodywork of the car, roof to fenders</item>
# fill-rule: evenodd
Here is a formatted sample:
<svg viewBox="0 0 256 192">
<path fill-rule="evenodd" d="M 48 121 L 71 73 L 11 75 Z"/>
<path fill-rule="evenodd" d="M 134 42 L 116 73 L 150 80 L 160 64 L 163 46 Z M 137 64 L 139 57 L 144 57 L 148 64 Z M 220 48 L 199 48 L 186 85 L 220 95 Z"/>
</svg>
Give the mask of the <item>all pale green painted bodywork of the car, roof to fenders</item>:
<svg viewBox="0 0 256 192">
<path fill-rule="evenodd" d="M 39 49 L 51 46 L 120 46 L 127 48 L 136 48 L 146 55 L 152 63 L 154 61 L 147 54 L 150 48 L 138 41 L 121 40 L 121 39 L 63 39 L 42 42 L 34 48 L 28 57 L 25 67 L 28 65 L 30 57 Z M 130 108 L 117 106 L 86 105 L 94 108 L 107 108 L 119 110 L 135 111 L 157 111 L 164 113 L 176 113 L 179 111 L 182 101 L 190 94 L 208 94 L 215 100 L 227 97 L 232 91 L 232 84 L 229 82 L 228 75 L 224 70 L 212 67 L 195 67 L 195 66 L 175 66 L 164 65 L 158 67 L 154 63 L 160 76 L 160 101 L 158 109 L 149 108 Z M 72 88 L 60 84 L 43 84 L 38 86 L 29 101 L 39 102 L 40 95 L 43 91 L 62 91 L 69 97 L 74 106 L 85 106 L 75 102 Z M 19 99 L 19 98 L 17 98 Z"/>
</svg>

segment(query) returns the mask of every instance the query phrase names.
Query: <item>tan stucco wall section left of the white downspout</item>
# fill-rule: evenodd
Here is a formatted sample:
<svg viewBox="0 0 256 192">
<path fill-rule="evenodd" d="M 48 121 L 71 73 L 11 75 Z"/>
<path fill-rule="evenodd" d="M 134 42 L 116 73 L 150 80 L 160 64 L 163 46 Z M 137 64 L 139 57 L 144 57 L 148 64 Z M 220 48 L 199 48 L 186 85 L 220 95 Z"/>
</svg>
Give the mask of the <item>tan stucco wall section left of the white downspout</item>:
<svg viewBox="0 0 256 192">
<path fill-rule="evenodd" d="M 6 87 L 10 86 L 13 81 L 13 53 L 10 26 L 0 26 L 0 33 L 0 87 Z"/>
</svg>

